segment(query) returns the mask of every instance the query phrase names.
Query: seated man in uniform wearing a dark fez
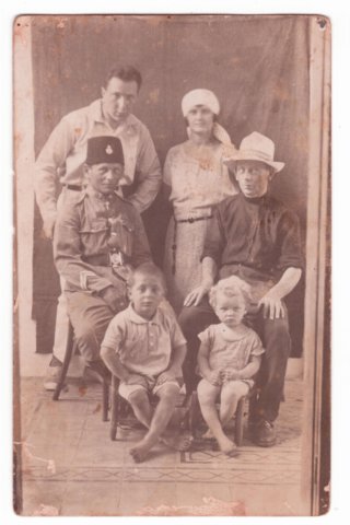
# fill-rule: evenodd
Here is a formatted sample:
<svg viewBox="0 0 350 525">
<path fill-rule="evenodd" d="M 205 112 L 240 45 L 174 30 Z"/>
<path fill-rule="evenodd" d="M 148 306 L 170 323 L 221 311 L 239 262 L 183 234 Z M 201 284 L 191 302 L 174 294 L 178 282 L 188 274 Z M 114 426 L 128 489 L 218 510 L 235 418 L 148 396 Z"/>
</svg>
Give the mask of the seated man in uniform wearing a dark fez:
<svg viewBox="0 0 350 525">
<path fill-rule="evenodd" d="M 102 339 L 114 315 L 128 305 L 130 267 L 150 261 L 151 255 L 139 212 L 116 192 L 124 176 L 120 140 L 89 139 L 84 173 L 85 190 L 58 212 L 54 255 L 79 349 L 104 375 Z"/>
</svg>

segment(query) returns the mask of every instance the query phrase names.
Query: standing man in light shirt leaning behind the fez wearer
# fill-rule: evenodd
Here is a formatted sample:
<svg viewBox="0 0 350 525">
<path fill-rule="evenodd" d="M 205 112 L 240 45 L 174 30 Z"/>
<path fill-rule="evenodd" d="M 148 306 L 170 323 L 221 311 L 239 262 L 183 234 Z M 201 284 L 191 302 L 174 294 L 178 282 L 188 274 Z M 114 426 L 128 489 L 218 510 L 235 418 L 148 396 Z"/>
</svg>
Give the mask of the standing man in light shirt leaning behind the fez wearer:
<svg viewBox="0 0 350 525">
<path fill-rule="evenodd" d="M 138 212 L 147 210 L 161 185 L 161 166 L 148 128 L 132 115 L 141 86 L 141 74 L 130 66 L 112 69 L 102 88 L 102 97 L 90 106 L 66 115 L 51 132 L 35 163 L 34 186 L 46 237 L 52 238 L 57 210 L 74 202 L 84 186 L 83 164 L 91 137 L 114 136 L 125 156 L 120 192 Z M 57 201 L 57 184 L 63 185 Z M 61 282 L 61 289 L 63 283 Z M 57 307 L 54 357 L 44 386 L 56 386 L 67 341 L 68 318 L 63 295 Z M 56 369 L 56 370 L 55 370 Z"/>
</svg>

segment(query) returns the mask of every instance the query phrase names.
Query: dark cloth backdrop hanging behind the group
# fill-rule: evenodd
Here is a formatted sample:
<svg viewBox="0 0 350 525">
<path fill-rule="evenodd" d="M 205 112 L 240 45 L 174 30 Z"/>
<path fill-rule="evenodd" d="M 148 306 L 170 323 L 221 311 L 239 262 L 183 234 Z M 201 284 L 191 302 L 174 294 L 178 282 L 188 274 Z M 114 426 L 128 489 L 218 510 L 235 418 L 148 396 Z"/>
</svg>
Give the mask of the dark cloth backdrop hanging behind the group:
<svg viewBox="0 0 350 525">
<path fill-rule="evenodd" d="M 308 21 L 293 15 L 33 16 L 35 153 L 67 113 L 101 93 L 110 67 L 129 62 L 143 85 L 135 114 L 149 127 L 161 162 L 186 139 L 183 95 L 207 88 L 232 141 L 256 130 L 276 143 L 285 168 L 275 192 L 293 208 L 305 237 L 308 131 Z M 160 195 L 144 221 L 161 264 L 168 207 Z M 34 229 L 34 302 L 37 351 L 50 352 L 59 282 L 39 213 Z M 293 355 L 302 353 L 301 282 L 289 296 Z"/>
</svg>

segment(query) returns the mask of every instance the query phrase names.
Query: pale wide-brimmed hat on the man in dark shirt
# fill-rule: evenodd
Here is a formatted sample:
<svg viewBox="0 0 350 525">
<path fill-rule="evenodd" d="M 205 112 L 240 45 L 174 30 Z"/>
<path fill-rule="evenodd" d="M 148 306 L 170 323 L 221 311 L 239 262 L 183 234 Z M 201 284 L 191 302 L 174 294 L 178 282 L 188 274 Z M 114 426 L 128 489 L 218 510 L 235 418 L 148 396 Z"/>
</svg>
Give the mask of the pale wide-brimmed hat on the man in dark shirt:
<svg viewBox="0 0 350 525">
<path fill-rule="evenodd" d="M 277 173 L 284 167 L 284 162 L 273 161 L 273 155 L 275 143 L 272 140 L 254 131 L 242 140 L 238 150 L 223 159 L 223 163 L 229 167 L 234 167 L 240 161 L 259 161 L 273 167 Z"/>
</svg>

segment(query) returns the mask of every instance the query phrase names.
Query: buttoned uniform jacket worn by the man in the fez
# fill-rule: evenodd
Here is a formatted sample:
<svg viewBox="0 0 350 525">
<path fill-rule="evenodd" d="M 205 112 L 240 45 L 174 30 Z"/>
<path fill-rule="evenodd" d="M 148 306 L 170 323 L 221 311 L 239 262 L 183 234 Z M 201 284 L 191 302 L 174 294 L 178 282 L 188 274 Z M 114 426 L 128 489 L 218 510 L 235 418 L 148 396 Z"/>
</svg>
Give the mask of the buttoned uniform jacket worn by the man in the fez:
<svg viewBox="0 0 350 525">
<path fill-rule="evenodd" d="M 125 282 L 109 262 L 110 219 L 120 219 L 128 236 L 126 262 L 137 267 L 151 260 L 139 212 L 116 192 L 104 196 L 88 186 L 77 202 L 65 203 L 58 213 L 54 257 L 66 291 L 98 293 L 113 284 L 125 293 Z M 120 240 L 120 245 L 125 240 Z"/>
</svg>

